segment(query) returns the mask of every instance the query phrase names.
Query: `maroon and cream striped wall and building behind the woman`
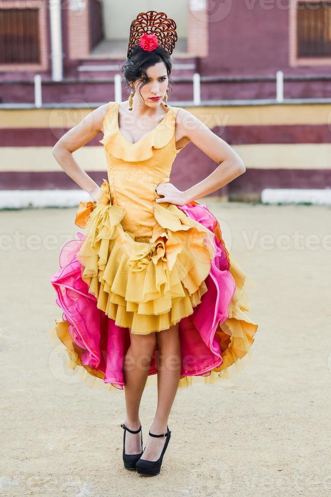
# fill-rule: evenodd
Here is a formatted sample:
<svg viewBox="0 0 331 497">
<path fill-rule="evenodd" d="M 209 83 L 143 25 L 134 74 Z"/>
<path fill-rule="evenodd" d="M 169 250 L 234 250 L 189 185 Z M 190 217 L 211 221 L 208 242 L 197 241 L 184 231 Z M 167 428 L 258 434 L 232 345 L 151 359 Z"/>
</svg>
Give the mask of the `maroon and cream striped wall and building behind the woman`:
<svg viewBox="0 0 331 497">
<path fill-rule="evenodd" d="M 151 9 L 164 11 L 164 2 L 0 0 L 0 189 L 76 188 L 51 149 L 115 100 L 130 23 Z M 165 10 L 178 33 L 169 103 L 194 113 L 246 165 L 215 195 L 259 200 L 266 188 L 330 188 L 331 2 L 171 0 Z M 128 94 L 123 85 L 122 100 Z M 101 137 L 77 154 L 99 182 Z M 186 188 L 215 166 L 189 144 L 171 181 Z"/>
</svg>

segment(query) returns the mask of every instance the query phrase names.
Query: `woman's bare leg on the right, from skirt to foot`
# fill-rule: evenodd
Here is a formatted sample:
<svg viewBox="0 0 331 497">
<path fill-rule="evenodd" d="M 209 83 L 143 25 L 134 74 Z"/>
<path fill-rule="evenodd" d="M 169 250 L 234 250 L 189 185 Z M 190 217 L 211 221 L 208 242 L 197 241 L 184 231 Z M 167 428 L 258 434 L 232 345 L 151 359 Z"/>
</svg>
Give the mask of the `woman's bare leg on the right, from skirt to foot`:
<svg viewBox="0 0 331 497">
<path fill-rule="evenodd" d="M 167 432 L 168 418 L 178 389 L 182 368 L 178 324 L 156 332 L 158 348 L 157 408 L 150 431 L 155 435 Z M 142 459 L 157 460 L 166 437 L 148 437 Z"/>
</svg>

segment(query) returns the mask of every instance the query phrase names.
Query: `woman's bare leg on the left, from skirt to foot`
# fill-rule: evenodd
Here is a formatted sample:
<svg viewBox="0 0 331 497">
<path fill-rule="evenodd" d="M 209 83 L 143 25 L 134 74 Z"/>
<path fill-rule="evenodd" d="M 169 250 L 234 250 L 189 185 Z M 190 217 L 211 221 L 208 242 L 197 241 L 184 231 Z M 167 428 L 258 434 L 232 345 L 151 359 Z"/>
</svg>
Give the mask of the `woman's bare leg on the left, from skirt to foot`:
<svg viewBox="0 0 331 497">
<path fill-rule="evenodd" d="M 131 430 L 140 427 L 139 406 L 146 384 L 150 362 L 155 348 L 155 333 L 136 335 L 131 333 L 131 344 L 124 359 L 124 392 L 127 415 L 125 424 Z M 141 451 L 141 433 L 126 432 L 126 454 Z"/>
</svg>

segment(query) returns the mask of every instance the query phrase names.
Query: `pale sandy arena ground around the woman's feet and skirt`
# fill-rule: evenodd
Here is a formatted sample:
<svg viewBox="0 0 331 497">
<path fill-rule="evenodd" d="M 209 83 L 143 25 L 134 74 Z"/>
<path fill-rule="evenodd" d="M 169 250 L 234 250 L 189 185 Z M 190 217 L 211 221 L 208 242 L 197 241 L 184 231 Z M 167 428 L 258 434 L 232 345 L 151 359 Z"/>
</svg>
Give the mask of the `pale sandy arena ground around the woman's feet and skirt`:
<svg viewBox="0 0 331 497">
<path fill-rule="evenodd" d="M 75 209 L 0 212 L 0 495 L 330 495 L 331 209 L 208 207 L 256 283 L 253 361 L 234 379 L 178 390 L 155 478 L 123 468 L 123 390 L 57 374 L 62 344 L 54 350 L 48 332 L 61 310 L 49 277 L 62 244 L 81 231 Z M 150 386 L 145 438 L 155 405 Z"/>
</svg>

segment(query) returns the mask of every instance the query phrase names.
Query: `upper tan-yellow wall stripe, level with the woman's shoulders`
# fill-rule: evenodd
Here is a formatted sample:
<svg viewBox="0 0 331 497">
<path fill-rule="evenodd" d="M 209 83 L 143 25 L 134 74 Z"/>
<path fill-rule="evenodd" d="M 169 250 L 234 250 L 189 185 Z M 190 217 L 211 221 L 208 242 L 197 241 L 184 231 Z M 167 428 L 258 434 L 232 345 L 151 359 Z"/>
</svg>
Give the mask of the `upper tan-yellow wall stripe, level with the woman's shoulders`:
<svg viewBox="0 0 331 497">
<path fill-rule="evenodd" d="M 206 126 L 328 124 L 331 132 L 331 105 L 274 104 L 238 107 L 184 107 Z M 65 130 L 78 124 L 90 109 L 13 109 L 0 110 L 0 128 L 51 128 Z M 56 132 L 55 136 L 61 136 Z"/>
</svg>

